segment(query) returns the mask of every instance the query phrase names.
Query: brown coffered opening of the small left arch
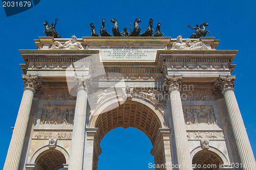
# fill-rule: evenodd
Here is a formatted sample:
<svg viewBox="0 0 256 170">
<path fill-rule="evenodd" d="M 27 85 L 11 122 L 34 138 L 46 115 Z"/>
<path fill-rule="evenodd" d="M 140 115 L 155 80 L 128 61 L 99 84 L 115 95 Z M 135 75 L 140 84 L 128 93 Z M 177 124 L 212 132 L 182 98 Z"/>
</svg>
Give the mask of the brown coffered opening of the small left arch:
<svg viewBox="0 0 256 170">
<path fill-rule="evenodd" d="M 66 164 L 65 155 L 55 149 L 48 149 L 38 155 L 35 160 L 37 169 L 57 170 Z"/>
</svg>

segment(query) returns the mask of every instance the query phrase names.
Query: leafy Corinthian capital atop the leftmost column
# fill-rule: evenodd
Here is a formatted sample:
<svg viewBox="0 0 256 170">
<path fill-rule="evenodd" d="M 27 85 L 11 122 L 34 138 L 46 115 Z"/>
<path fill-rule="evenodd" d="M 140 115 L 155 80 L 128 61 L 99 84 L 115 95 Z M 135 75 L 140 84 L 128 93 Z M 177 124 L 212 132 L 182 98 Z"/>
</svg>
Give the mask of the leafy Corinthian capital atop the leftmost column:
<svg viewBox="0 0 256 170">
<path fill-rule="evenodd" d="M 38 75 L 22 75 L 22 80 L 25 83 L 25 85 L 23 85 L 25 87 L 24 90 L 32 89 L 35 92 L 35 90 L 42 87 L 42 82 L 41 79 L 38 78 Z"/>
</svg>

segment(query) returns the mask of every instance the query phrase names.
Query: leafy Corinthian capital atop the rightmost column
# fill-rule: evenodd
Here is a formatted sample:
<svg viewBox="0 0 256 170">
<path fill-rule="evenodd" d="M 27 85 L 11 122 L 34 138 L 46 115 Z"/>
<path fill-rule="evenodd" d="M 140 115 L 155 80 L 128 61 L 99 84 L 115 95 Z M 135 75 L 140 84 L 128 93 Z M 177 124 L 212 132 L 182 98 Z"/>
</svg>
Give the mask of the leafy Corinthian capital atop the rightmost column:
<svg viewBox="0 0 256 170">
<path fill-rule="evenodd" d="M 236 75 L 219 75 L 217 82 L 214 84 L 214 91 L 221 91 L 224 93 L 226 90 L 234 90 L 234 81 L 236 80 Z"/>
</svg>

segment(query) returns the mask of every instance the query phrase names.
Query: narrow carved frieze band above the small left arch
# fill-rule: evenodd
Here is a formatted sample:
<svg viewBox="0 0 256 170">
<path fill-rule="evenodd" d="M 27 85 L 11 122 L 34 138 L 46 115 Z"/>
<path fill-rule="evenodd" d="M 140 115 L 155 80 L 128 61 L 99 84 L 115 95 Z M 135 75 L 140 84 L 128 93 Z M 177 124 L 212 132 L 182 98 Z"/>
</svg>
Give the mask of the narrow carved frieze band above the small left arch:
<svg viewBox="0 0 256 170">
<path fill-rule="evenodd" d="M 71 139 L 72 130 L 35 130 L 34 139 Z"/>
</svg>

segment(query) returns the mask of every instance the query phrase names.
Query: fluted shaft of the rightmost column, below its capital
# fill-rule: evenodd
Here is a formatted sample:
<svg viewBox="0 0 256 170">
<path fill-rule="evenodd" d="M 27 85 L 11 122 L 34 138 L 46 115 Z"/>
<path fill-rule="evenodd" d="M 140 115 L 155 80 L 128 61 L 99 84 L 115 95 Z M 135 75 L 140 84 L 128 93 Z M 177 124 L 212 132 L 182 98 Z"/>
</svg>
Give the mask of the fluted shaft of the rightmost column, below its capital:
<svg viewBox="0 0 256 170">
<path fill-rule="evenodd" d="M 238 107 L 233 88 L 223 90 L 228 114 L 231 120 L 234 138 L 236 139 L 238 152 L 243 169 L 255 169 L 255 158 L 251 149 L 250 141 L 244 126 L 242 115 Z"/>
</svg>

